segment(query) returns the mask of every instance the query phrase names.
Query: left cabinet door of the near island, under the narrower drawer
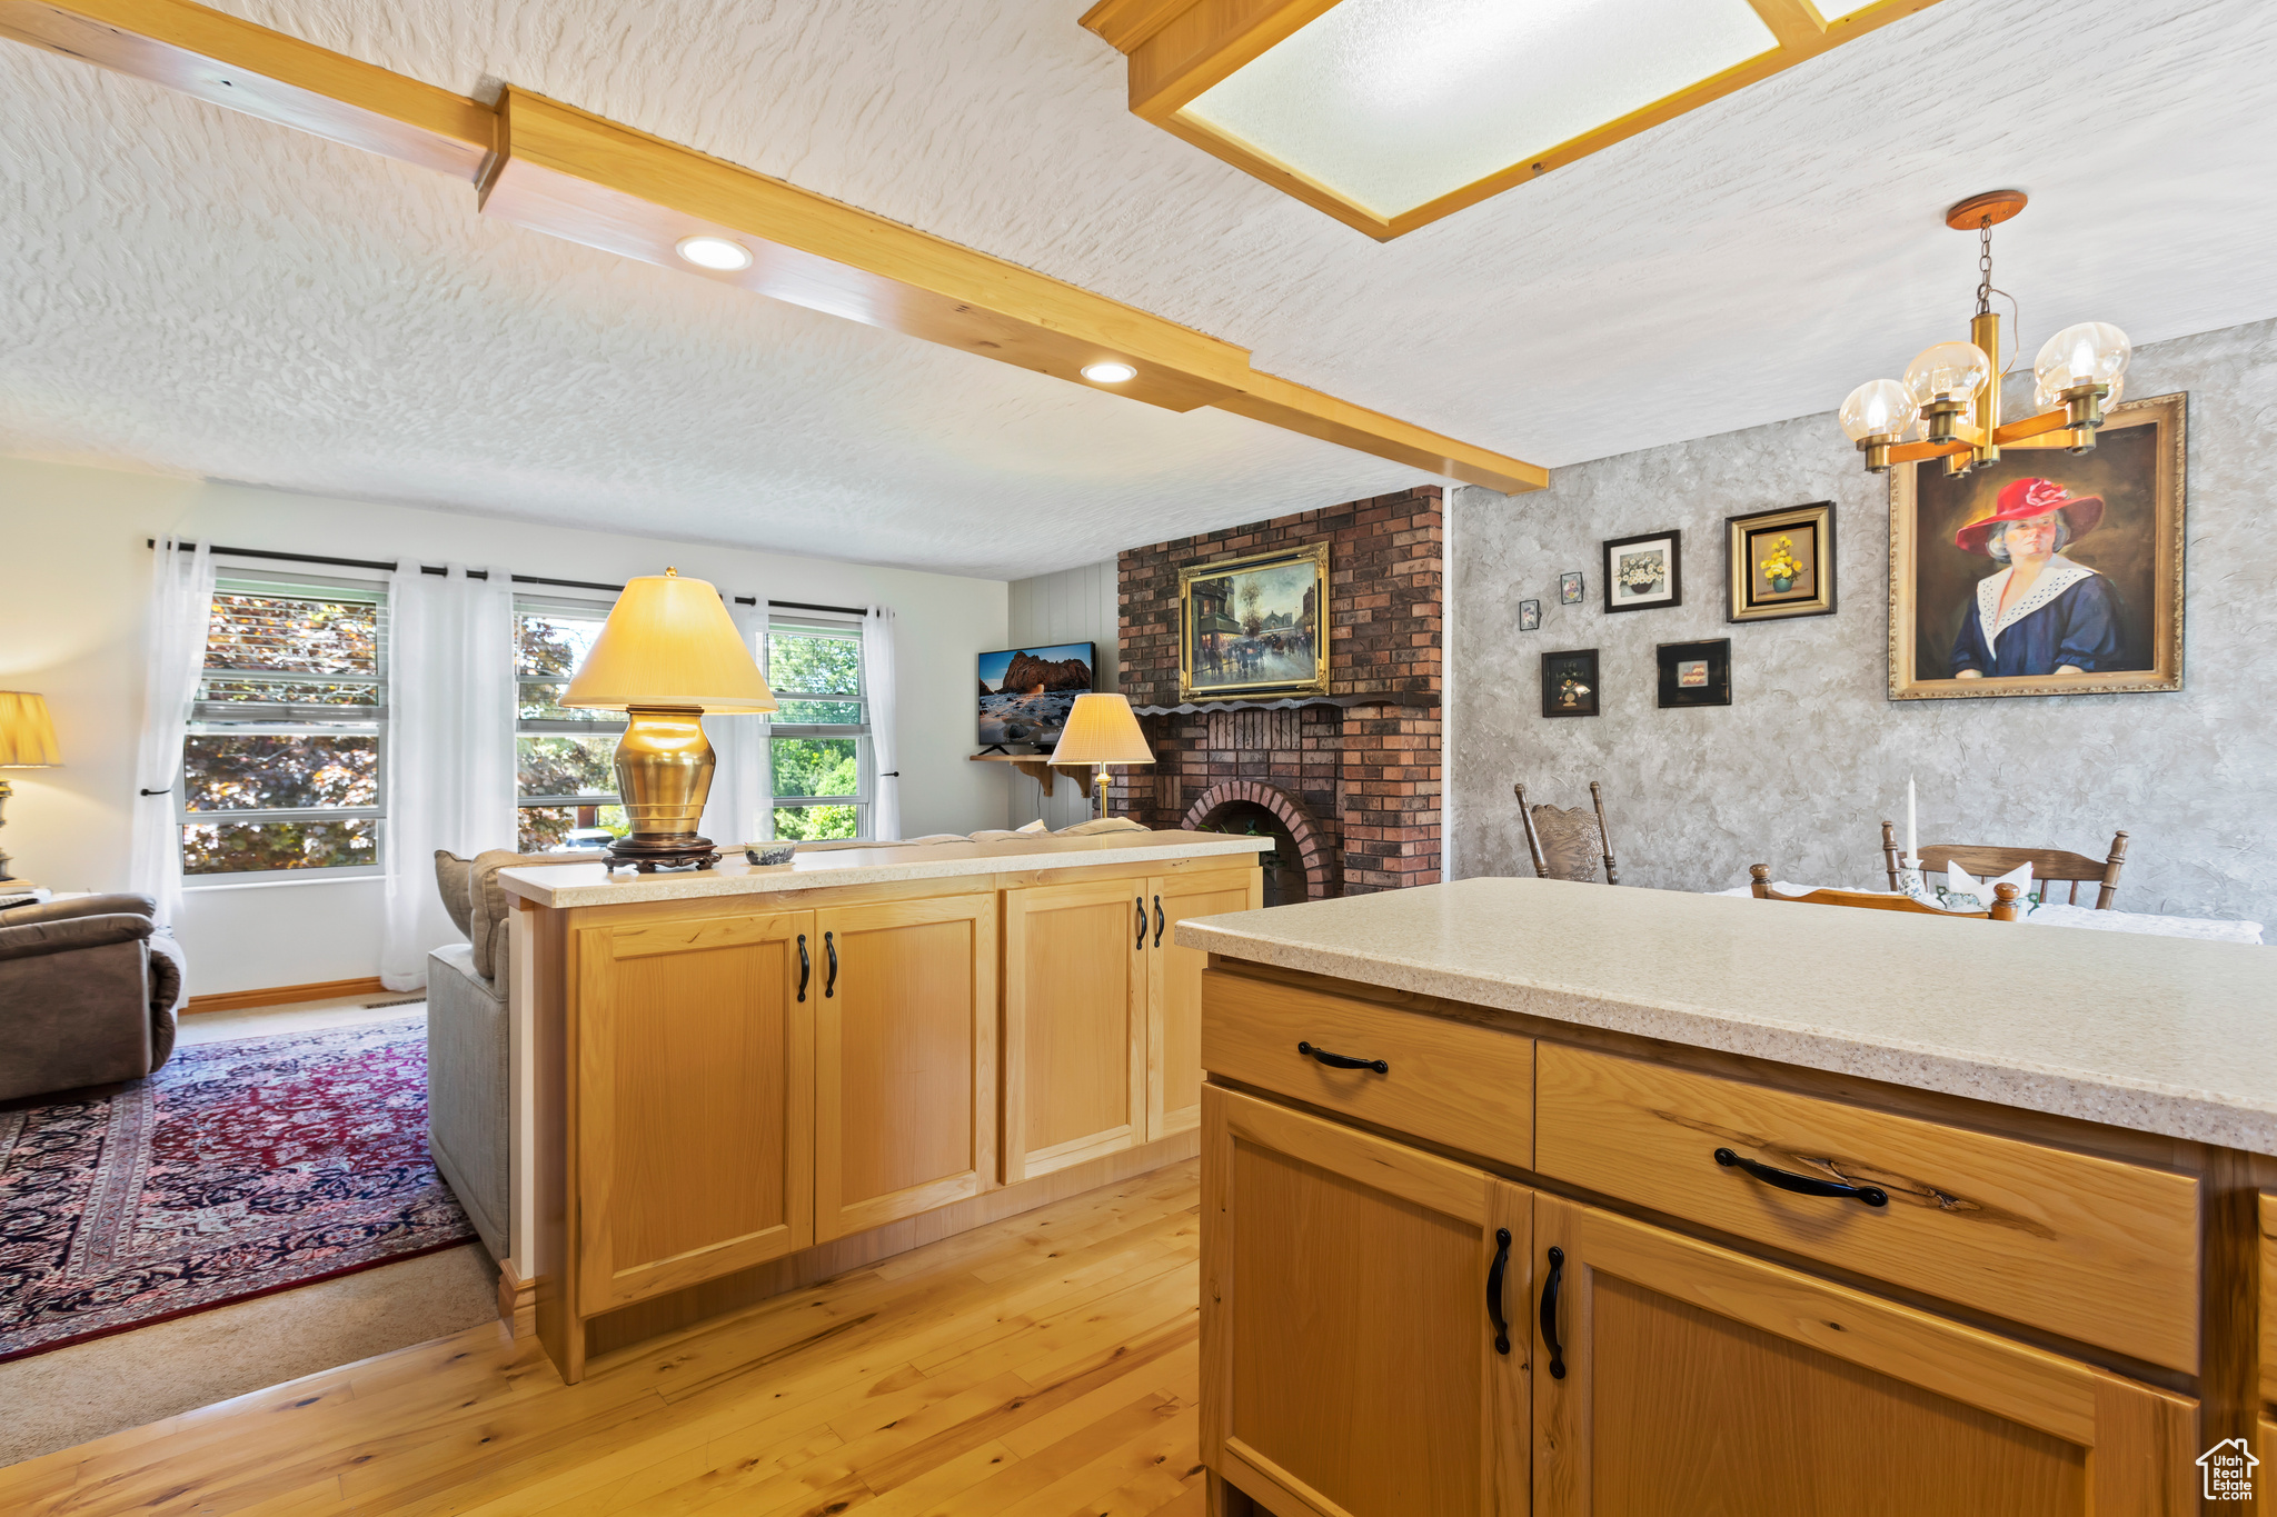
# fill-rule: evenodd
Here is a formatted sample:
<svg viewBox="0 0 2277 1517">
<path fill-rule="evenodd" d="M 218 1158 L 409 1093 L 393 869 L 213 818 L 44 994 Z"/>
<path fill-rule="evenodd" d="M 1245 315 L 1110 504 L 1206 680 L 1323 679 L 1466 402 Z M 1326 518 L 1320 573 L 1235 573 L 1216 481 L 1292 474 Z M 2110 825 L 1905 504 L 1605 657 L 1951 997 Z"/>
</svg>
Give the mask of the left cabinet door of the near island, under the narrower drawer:
<svg viewBox="0 0 2277 1517">
<path fill-rule="evenodd" d="M 1528 1203 L 1205 1087 L 1202 1460 L 1277 1517 L 1526 1512 Z"/>
</svg>

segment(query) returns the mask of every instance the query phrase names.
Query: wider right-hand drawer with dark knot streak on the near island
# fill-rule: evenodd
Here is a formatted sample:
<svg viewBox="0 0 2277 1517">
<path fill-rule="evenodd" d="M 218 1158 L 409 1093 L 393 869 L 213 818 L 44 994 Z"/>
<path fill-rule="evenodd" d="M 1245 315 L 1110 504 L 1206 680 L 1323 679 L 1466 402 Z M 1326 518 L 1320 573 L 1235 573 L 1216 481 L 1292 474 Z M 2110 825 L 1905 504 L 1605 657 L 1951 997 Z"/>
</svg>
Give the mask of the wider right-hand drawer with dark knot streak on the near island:
<svg viewBox="0 0 2277 1517">
<path fill-rule="evenodd" d="M 2190 1176 L 1551 1042 L 1537 1073 L 1546 1176 L 2197 1371 Z M 1717 1151 L 1888 1201 L 1778 1189 Z"/>
</svg>

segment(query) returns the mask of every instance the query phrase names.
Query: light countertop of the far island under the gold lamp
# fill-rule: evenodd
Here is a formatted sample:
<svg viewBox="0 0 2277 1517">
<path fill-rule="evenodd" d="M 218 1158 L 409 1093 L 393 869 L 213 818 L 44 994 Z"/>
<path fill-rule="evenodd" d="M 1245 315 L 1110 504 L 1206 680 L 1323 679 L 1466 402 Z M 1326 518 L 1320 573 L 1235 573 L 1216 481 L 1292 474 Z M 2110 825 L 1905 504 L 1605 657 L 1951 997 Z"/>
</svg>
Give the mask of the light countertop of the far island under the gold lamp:
<svg viewBox="0 0 2277 1517">
<path fill-rule="evenodd" d="M 1093 837 L 1020 837 L 986 844 L 895 844 L 883 848 L 833 848 L 802 853 L 788 864 L 747 864 L 729 851 L 713 869 L 676 873 L 610 873 L 599 862 L 528 864 L 501 869 L 508 894 L 537 905 L 624 905 L 628 901 L 699 901 L 706 896 L 758 896 L 824 885 L 890 885 L 895 880 L 950 880 L 975 873 L 1022 869 L 1075 869 L 1088 864 L 1152 864 L 1184 857 L 1261 853 L 1271 837 L 1227 832 L 1098 832 Z M 733 862 L 729 862 L 733 860 Z"/>
</svg>

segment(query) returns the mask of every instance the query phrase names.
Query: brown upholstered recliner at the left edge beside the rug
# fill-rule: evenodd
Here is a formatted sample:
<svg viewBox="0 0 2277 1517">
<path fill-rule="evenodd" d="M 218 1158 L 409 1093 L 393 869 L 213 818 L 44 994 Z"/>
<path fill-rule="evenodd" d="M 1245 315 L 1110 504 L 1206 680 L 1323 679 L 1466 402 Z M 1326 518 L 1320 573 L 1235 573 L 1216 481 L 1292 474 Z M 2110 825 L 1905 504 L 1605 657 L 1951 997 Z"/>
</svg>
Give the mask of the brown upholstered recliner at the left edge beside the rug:
<svg viewBox="0 0 2277 1517">
<path fill-rule="evenodd" d="M 150 896 L 0 912 L 0 1101 L 139 1080 L 173 1053 L 182 951 Z"/>
</svg>

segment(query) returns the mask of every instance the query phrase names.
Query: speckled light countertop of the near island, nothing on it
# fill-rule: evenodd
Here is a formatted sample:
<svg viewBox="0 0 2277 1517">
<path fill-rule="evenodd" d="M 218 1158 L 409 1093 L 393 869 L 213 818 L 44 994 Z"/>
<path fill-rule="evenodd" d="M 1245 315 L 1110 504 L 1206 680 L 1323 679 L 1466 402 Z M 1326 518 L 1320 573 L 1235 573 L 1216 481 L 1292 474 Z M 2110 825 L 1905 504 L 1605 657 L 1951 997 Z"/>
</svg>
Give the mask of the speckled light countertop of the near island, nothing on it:
<svg viewBox="0 0 2277 1517">
<path fill-rule="evenodd" d="M 1387 989 L 2277 1155 L 2277 953 L 1562 880 L 1200 917 Z"/>
</svg>

